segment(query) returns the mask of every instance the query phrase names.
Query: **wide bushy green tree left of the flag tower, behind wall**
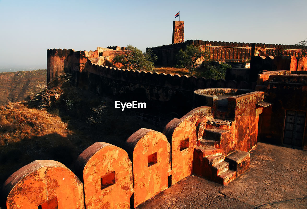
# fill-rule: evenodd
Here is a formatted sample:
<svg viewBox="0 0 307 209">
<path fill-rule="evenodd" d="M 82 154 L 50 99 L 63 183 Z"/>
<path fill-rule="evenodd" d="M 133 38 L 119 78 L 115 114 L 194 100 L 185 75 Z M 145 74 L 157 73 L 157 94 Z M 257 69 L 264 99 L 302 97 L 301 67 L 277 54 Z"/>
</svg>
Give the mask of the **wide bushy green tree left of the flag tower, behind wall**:
<svg viewBox="0 0 307 209">
<path fill-rule="evenodd" d="M 153 61 L 156 57 L 148 50 L 143 53 L 140 49 L 127 45 L 126 52 L 122 55 L 117 55 L 113 58 L 114 64 L 121 64 L 123 68 L 129 70 L 145 70 L 152 71 L 154 68 Z"/>
</svg>

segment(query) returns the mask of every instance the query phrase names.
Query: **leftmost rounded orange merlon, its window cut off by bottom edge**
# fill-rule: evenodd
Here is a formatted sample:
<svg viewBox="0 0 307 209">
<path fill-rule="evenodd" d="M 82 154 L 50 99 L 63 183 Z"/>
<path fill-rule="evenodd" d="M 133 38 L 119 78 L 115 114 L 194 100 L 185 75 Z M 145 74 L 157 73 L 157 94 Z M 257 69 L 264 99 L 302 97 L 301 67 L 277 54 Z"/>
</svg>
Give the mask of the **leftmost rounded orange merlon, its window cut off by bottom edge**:
<svg viewBox="0 0 307 209">
<path fill-rule="evenodd" d="M 35 160 L 14 172 L 3 185 L 7 209 L 83 209 L 83 185 L 65 165 Z"/>
</svg>

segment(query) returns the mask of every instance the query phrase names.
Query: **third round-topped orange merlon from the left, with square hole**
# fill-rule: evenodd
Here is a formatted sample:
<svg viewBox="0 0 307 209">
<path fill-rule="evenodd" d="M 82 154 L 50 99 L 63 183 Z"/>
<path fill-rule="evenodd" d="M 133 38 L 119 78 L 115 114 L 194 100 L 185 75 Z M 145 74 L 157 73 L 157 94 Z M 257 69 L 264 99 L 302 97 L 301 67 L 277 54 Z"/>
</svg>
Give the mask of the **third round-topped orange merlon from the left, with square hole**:
<svg viewBox="0 0 307 209">
<path fill-rule="evenodd" d="M 128 139 L 133 161 L 134 207 L 168 187 L 170 144 L 164 134 L 146 128 Z"/>
</svg>

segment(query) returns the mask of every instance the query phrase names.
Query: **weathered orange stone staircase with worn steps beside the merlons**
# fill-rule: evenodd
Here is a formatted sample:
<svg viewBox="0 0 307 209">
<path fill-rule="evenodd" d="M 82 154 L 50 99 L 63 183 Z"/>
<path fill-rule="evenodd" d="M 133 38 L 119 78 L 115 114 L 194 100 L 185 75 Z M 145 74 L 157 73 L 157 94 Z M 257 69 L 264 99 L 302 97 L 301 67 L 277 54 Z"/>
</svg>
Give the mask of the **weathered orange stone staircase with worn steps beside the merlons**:
<svg viewBox="0 0 307 209">
<path fill-rule="evenodd" d="M 193 173 L 225 185 L 249 168 L 250 153 L 235 151 L 229 146 L 233 126 L 231 120 L 197 121 Z"/>
</svg>

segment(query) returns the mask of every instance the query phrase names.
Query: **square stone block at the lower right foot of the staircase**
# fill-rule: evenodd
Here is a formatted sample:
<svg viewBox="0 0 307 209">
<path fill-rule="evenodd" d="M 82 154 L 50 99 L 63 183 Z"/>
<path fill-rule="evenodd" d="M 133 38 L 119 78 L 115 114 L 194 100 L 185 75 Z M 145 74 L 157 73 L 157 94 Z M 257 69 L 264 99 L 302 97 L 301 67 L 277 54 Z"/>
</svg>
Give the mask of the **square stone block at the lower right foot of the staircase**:
<svg viewBox="0 0 307 209">
<path fill-rule="evenodd" d="M 229 168 L 237 172 L 237 177 L 245 172 L 250 166 L 249 152 L 236 150 L 225 157 L 225 161 L 229 163 Z"/>
</svg>

